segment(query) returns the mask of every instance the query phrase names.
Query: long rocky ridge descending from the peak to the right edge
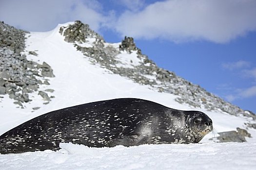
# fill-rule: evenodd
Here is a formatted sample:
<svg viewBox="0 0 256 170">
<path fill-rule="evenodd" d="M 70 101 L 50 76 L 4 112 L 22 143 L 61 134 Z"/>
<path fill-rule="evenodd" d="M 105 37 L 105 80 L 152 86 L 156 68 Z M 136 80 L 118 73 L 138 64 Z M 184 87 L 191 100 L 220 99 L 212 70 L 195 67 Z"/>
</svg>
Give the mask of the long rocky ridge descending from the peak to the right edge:
<svg viewBox="0 0 256 170">
<path fill-rule="evenodd" d="M 92 64 L 98 64 L 100 67 L 107 68 L 110 72 L 127 77 L 136 83 L 150 85 L 151 88 L 159 92 L 178 95 L 177 102 L 187 103 L 196 108 L 203 107 L 210 111 L 223 111 L 235 116 L 242 115 L 256 119 L 256 115 L 252 112 L 242 110 L 238 106 L 224 101 L 199 85 L 194 85 L 177 76 L 172 71 L 158 68 L 147 55 L 141 53 L 132 37 L 125 37 L 117 48 L 106 43 L 99 34 L 89 28 L 89 25 L 80 21 L 61 27 L 59 33 L 65 37 L 65 41 L 73 43 L 77 50 L 89 57 Z M 118 60 L 118 55 L 125 51 L 136 54 L 140 61 L 139 64 L 134 65 L 131 60 L 132 67 L 122 65 Z M 254 124 L 250 126 L 253 127 Z"/>
</svg>

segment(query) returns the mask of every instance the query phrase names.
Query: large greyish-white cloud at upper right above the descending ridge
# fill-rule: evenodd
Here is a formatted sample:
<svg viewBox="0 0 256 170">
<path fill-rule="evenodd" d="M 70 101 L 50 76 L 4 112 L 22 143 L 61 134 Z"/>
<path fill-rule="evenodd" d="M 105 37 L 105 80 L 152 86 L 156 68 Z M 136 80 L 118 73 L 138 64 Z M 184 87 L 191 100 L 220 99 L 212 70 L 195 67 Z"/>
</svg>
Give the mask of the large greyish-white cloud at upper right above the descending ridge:
<svg viewBox="0 0 256 170">
<path fill-rule="evenodd" d="M 166 0 L 126 11 L 112 26 L 136 38 L 226 43 L 255 31 L 255 16 L 256 0 Z"/>
</svg>

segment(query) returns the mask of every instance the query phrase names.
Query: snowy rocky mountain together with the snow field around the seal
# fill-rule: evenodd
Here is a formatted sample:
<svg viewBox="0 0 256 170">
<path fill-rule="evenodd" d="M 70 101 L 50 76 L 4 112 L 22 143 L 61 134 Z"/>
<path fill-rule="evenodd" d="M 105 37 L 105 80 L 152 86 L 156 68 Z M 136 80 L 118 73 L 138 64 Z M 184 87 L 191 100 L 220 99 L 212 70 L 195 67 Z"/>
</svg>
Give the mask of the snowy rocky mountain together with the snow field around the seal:
<svg viewBox="0 0 256 170">
<path fill-rule="evenodd" d="M 53 110 L 126 97 L 199 110 L 213 120 L 216 132 L 243 133 L 236 132 L 240 128 L 251 134 L 244 135 L 248 141 L 244 143 L 216 143 L 220 139 L 211 133 L 203 144 L 102 149 L 62 144 L 58 152 L 0 155 L 1 169 L 245 170 L 256 166 L 256 116 L 158 68 L 132 38 L 107 43 L 79 21 L 45 33 L 24 32 L 2 22 L 0 38 L 0 135 Z"/>
</svg>

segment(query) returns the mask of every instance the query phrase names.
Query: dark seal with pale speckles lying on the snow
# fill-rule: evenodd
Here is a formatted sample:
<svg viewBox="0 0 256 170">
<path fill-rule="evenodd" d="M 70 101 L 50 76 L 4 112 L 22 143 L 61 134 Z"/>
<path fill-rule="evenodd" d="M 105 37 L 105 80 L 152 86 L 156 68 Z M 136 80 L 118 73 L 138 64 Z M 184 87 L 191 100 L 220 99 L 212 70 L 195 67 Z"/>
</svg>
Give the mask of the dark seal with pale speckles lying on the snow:
<svg viewBox="0 0 256 170">
<path fill-rule="evenodd" d="M 212 130 L 212 120 L 199 111 L 176 110 L 142 99 L 113 99 L 28 120 L 0 136 L 0 153 L 55 151 L 60 142 L 89 147 L 197 143 Z"/>
</svg>

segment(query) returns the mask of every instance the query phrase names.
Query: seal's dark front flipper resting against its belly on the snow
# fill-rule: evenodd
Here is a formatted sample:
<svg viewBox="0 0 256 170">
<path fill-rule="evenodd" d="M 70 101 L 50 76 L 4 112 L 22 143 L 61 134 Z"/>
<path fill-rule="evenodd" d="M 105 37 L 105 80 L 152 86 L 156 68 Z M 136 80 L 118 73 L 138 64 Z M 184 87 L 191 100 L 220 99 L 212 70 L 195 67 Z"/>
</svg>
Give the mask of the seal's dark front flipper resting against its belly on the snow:
<svg viewBox="0 0 256 170">
<path fill-rule="evenodd" d="M 106 146 L 107 147 L 114 147 L 117 145 L 138 146 L 142 144 L 150 144 L 149 136 L 139 136 L 139 135 L 120 136 L 118 138 L 108 141 L 106 143 Z"/>
</svg>

